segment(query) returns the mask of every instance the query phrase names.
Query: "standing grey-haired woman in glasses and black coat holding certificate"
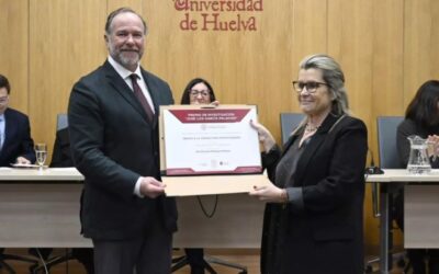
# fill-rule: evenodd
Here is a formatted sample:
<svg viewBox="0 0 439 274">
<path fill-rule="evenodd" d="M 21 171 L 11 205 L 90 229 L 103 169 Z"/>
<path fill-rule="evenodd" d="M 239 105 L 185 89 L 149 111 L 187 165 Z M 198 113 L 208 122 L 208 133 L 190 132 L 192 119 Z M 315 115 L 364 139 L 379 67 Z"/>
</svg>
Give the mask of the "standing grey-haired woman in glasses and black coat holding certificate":
<svg viewBox="0 0 439 274">
<path fill-rule="evenodd" d="M 283 151 L 251 123 L 273 182 L 250 192 L 267 203 L 261 273 L 362 274 L 367 127 L 350 115 L 345 76 L 331 57 L 304 58 L 293 87 L 305 118 Z"/>
</svg>

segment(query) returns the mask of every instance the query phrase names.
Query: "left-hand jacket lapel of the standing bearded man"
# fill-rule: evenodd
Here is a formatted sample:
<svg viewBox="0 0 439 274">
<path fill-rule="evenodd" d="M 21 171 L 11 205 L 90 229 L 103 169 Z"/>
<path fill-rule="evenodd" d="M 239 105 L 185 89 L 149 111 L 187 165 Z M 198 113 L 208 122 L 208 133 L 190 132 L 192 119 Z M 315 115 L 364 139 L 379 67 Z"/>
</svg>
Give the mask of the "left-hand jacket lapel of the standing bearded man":
<svg viewBox="0 0 439 274">
<path fill-rule="evenodd" d="M 142 107 L 140 103 L 138 102 L 138 100 L 136 99 L 136 96 L 134 95 L 133 91 L 130 89 L 125 80 L 122 79 L 122 77 L 115 71 L 115 69 L 110 65 L 108 60 L 103 65 L 103 71 L 105 73 L 106 79 L 109 80 L 110 85 L 113 87 L 114 90 L 116 90 L 117 93 L 121 94 L 121 96 L 128 104 L 131 104 L 133 109 L 136 110 L 149 125 L 146 113 Z"/>
</svg>

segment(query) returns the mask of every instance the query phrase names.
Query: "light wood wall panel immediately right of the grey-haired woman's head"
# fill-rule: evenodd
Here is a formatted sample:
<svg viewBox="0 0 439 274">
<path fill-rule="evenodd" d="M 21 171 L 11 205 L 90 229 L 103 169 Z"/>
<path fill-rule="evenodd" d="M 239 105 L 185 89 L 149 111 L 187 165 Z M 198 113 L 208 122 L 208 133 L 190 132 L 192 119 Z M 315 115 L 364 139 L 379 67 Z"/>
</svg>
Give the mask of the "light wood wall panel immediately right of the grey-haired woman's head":
<svg viewBox="0 0 439 274">
<path fill-rule="evenodd" d="M 372 38 L 373 4 L 371 1 L 336 0 L 328 2 L 328 53 L 337 59 L 345 72 L 350 109 L 371 128 L 372 109 Z M 371 139 L 369 130 L 369 139 Z M 371 192 L 368 184 L 364 206 L 365 242 L 376 241 L 378 219 L 372 218 Z"/>
</svg>

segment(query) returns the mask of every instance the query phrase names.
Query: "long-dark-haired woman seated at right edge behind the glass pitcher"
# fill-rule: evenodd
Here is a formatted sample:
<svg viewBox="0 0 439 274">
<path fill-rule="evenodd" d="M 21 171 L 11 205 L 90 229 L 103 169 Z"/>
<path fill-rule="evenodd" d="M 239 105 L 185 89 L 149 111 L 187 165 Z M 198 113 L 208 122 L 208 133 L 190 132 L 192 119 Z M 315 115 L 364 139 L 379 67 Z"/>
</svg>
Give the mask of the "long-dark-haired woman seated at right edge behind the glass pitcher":
<svg viewBox="0 0 439 274">
<path fill-rule="evenodd" d="M 410 135 L 428 138 L 438 144 L 439 138 L 439 81 L 425 82 L 416 92 L 405 111 L 405 118 L 397 127 L 396 146 L 401 167 L 406 168 L 410 152 Z M 431 167 L 439 168 L 439 159 L 431 159 Z M 404 231 L 404 192 L 401 190 L 395 197 L 395 219 Z M 439 274 L 438 249 L 408 249 L 408 260 L 412 263 L 413 274 Z M 425 260 L 428 259 L 428 272 Z"/>
</svg>

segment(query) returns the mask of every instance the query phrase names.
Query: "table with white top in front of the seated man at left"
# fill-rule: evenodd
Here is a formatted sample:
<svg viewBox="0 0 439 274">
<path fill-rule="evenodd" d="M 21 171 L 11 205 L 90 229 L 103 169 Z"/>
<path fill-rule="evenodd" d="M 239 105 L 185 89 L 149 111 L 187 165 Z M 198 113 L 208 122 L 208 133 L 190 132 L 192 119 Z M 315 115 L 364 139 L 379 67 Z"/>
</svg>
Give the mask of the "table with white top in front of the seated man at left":
<svg viewBox="0 0 439 274">
<path fill-rule="evenodd" d="M 0 168 L 0 247 L 91 247 L 79 233 L 82 181 L 75 168 Z"/>
</svg>

